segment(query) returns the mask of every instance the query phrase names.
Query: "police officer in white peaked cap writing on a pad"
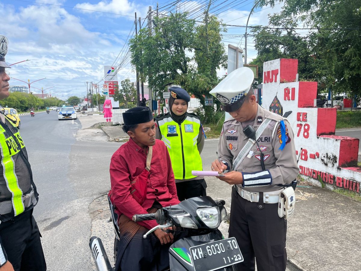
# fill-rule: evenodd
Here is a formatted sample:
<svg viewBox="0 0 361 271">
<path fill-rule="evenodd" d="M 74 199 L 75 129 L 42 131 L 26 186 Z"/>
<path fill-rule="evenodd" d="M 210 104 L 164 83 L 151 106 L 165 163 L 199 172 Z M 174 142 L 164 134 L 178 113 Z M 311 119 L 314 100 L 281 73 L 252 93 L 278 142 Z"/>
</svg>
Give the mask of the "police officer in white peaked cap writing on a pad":
<svg viewBox="0 0 361 271">
<path fill-rule="evenodd" d="M 233 117 L 224 122 L 218 143 L 221 163 L 214 160 L 211 169 L 234 185 L 229 236 L 236 238 L 244 257 L 238 269 L 255 270 L 256 258 L 257 270 L 281 271 L 287 261 L 283 194 L 291 190 L 289 206 L 294 208 L 294 191 L 285 184 L 299 168 L 290 124 L 256 103 L 253 77 L 251 69 L 239 68 L 210 91 Z M 258 144 L 244 129 L 248 136 L 253 132 Z"/>
</svg>

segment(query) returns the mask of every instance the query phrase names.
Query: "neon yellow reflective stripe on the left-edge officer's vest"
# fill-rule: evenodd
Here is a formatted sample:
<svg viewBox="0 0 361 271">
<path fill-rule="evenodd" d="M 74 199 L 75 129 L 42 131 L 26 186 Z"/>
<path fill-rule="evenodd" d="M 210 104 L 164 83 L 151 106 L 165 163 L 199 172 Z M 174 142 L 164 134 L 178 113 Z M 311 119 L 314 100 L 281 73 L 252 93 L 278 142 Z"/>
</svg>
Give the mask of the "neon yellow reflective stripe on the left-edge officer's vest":
<svg viewBox="0 0 361 271">
<path fill-rule="evenodd" d="M 0 126 L 1 165 L 3 166 L 3 176 L 6 186 L 12 193 L 12 204 L 14 214 L 16 216 L 21 214 L 25 210 L 25 207 L 22 201 L 23 192 L 18 185 L 18 178 L 15 174 L 14 160 L 12 156 L 16 155 L 20 151 L 18 144 L 21 148 L 25 147 L 25 145 L 19 132 L 14 134 L 18 140 L 18 144 L 12 136 L 6 138 L 4 132 L 5 129 Z"/>
</svg>

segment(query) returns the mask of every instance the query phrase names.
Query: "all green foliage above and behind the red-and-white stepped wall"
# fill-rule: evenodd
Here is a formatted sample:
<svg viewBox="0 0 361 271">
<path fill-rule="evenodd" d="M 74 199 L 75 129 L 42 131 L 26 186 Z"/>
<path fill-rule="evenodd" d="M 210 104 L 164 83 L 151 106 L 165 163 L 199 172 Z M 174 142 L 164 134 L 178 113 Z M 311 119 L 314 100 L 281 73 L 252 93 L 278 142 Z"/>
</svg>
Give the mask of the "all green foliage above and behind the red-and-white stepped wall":
<svg viewBox="0 0 361 271">
<path fill-rule="evenodd" d="M 334 94 L 361 96 L 361 0 L 283 0 L 279 14 L 269 17 L 271 26 L 295 27 L 295 22 L 315 28 L 304 39 L 299 59 L 300 78 L 318 81 L 318 90 L 331 87 Z M 260 5 L 275 5 L 275 0 L 262 0 Z M 285 24 L 286 23 L 286 24 Z M 278 33 L 275 33 L 277 32 Z M 271 48 L 257 48 L 258 62 L 278 57 L 292 57 L 294 49 L 288 36 L 300 38 L 296 31 L 256 30 Z M 290 31 L 292 31 L 290 35 Z M 282 40 L 282 43 L 278 43 Z M 273 42 L 276 43 L 274 46 Z M 286 43 L 285 43 L 286 42 Z M 283 46 L 283 44 L 285 44 Z M 256 46 L 258 46 L 256 42 Z M 283 47 L 283 48 L 282 48 Z M 296 43 L 297 47 L 297 43 Z M 284 50 L 287 48 L 289 50 Z M 270 50 L 267 50 L 270 49 Z M 279 50 L 278 50 L 279 49 Z M 309 51 L 309 54 L 304 52 Z M 283 55 L 280 55 L 283 53 Z"/>
</svg>

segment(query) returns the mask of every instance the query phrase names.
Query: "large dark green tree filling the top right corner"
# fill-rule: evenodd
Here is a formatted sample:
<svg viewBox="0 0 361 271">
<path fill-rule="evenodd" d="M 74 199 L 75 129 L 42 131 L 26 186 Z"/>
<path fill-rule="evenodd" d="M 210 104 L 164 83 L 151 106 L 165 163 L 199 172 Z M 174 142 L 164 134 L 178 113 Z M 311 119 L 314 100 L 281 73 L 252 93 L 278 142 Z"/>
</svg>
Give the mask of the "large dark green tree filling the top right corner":
<svg viewBox="0 0 361 271">
<path fill-rule="evenodd" d="M 361 95 L 361 0 L 283 0 L 279 14 L 270 17 L 278 26 L 278 18 L 287 18 L 314 28 L 307 37 L 313 61 L 313 77 L 320 88 L 335 93 Z M 273 6 L 274 0 L 262 0 L 260 5 Z M 301 15 L 299 15 L 301 14 Z"/>
</svg>

